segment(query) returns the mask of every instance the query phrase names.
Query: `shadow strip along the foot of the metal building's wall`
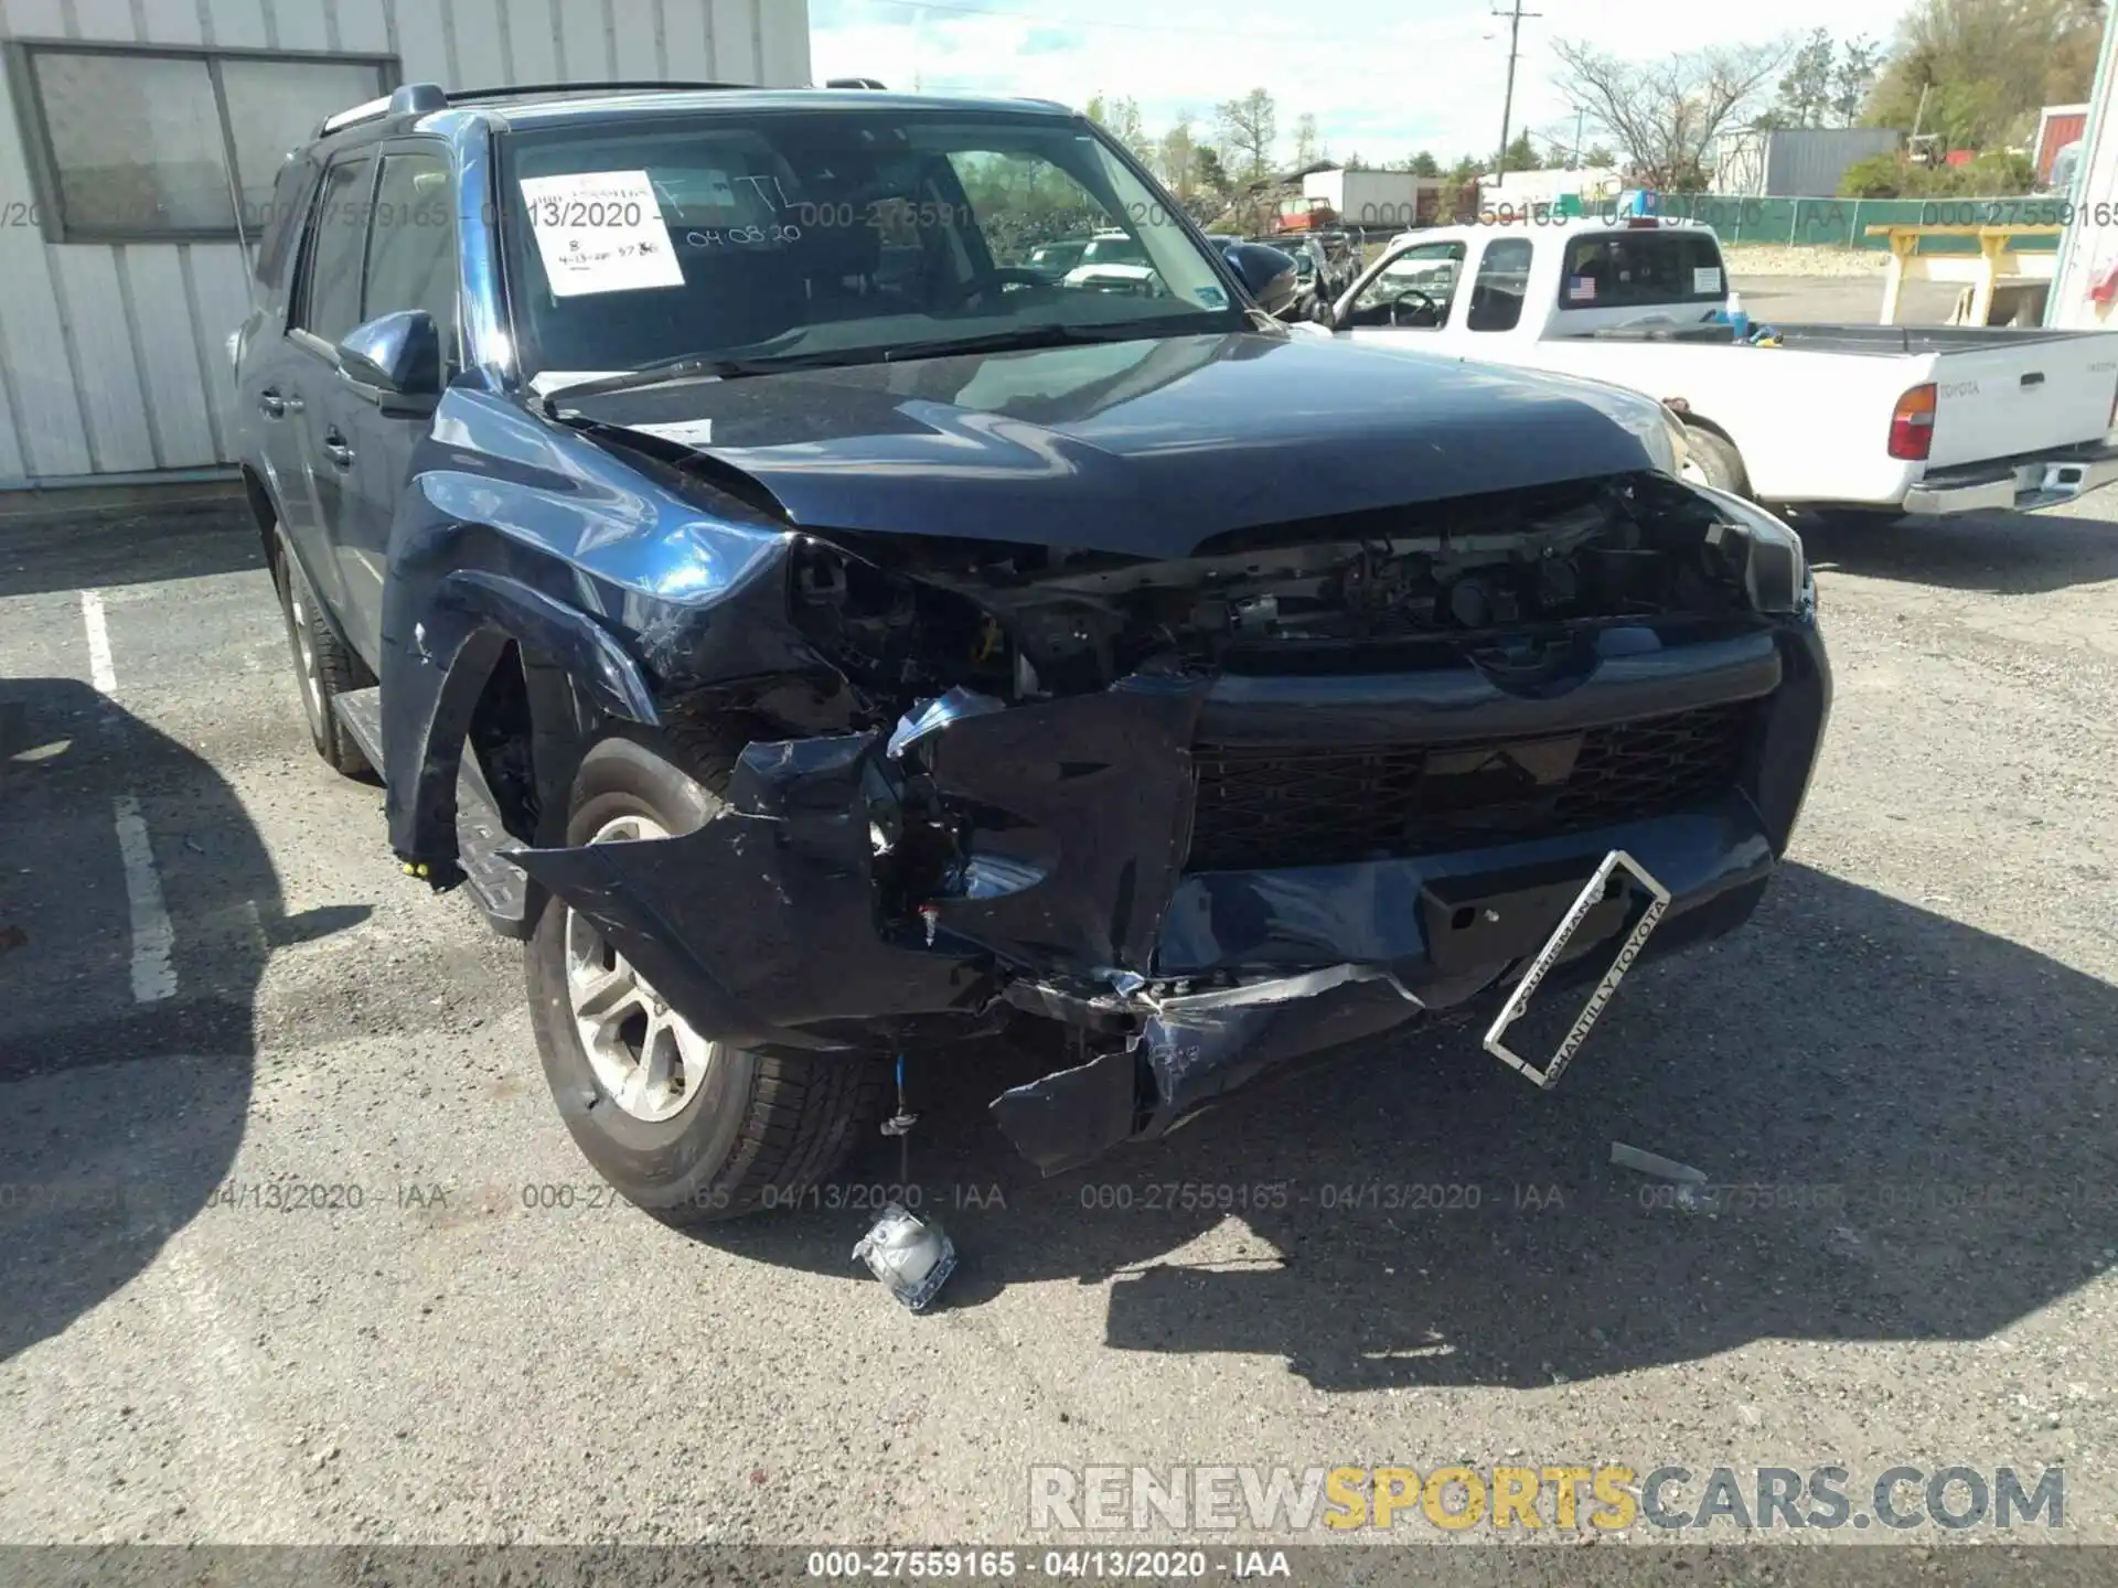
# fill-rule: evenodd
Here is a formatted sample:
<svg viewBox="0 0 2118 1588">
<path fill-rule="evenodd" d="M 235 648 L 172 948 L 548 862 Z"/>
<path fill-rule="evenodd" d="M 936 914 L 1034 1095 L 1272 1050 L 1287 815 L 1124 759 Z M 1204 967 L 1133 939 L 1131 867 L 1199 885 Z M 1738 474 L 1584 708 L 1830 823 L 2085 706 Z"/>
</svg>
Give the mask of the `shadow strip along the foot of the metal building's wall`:
<svg viewBox="0 0 2118 1588">
<path fill-rule="evenodd" d="M 144 508 L 72 508 L 0 517 L 0 597 L 157 584 L 263 567 L 265 548 L 239 495 Z"/>
</svg>

